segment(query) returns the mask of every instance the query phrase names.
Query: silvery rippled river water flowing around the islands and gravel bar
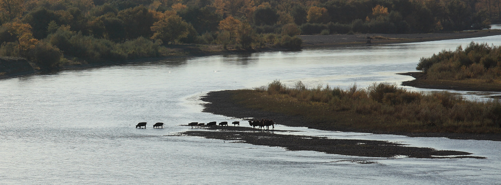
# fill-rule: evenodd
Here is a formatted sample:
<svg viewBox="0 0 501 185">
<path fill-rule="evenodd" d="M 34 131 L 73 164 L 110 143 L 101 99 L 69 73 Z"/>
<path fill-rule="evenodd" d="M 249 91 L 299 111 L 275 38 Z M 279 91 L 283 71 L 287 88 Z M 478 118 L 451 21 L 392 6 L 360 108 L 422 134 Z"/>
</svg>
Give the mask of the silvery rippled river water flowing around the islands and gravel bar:
<svg viewBox="0 0 501 185">
<path fill-rule="evenodd" d="M 180 126 L 193 121 L 241 121 L 248 127 L 237 118 L 202 112 L 199 98 L 210 91 L 261 87 L 276 79 L 342 88 L 399 84 L 412 77 L 396 73 L 416 71 L 421 57 L 471 41 L 499 45 L 501 36 L 169 59 L 0 80 L 0 183 L 499 183 L 497 141 L 276 125 L 301 131 L 293 134 L 383 140 L 486 157 L 423 159 L 288 151 L 176 135 L 203 130 Z M 147 129 L 136 129 L 143 121 Z M 166 125 L 153 129 L 155 122 Z"/>
</svg>

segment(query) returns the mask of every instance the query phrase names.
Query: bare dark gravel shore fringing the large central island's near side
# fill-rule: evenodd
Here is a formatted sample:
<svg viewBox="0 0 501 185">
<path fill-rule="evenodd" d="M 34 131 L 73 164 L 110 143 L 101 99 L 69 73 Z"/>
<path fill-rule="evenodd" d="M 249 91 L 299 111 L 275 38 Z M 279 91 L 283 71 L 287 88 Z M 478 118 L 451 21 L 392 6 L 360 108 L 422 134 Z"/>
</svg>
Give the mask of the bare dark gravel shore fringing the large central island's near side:
<svg viewBox="0 0 501 185">
<path fill-rule="evenodd" d="M 351 132 L 364 132 L 375 134 L 394 134 L 406 135 L 410 137 L 446 137 L 450 139 L 475 139 L 475 140 L 492 140 L 501 141 L 501 134 L 473 134 L 473 133 L 404 133 L 404 132 L 384 132 L 377 130 L 360 130 L 344 127 L 322 127 L 321 122 L 316 122 L 307 119 L 303 116 L 287 115 L 276 112 L 266 112 L 262 110 L 247 108 L 244 105 L 238 104 L 232 99 L 232 91 L 213 91 L 209 92 L 206 96 L 201 97 L 201 100 L 207 102 L 204 104 L 203 112 L 210 112 L 213 114 L 224 115 L 235 118 L 256 118 L 256 119 L 273 119 L 277 124 L 287 126 L 303 126 L 319 130 L 332 130 L 332 131 L 351 131 Z M 242 123 L 240 123 L 242 124 Z M 244 123 L 248 125 L 248 123 Z"/>
</svg>

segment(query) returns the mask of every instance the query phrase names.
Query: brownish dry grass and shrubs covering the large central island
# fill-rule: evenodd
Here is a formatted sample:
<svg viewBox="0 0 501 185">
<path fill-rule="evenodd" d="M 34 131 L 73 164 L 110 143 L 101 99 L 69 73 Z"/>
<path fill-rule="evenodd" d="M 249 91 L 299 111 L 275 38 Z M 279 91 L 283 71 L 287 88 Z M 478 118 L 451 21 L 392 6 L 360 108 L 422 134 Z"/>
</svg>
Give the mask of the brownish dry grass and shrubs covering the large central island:
<svg viewBox="0 0 501 185">
<path fill-rule="evenodd" d="M 501 103 L 464 100 L 450 92 L 412 92 L 395 84 L 361 89 L 287 87 L 240 90 L 237 101 L 253 108 L 301 115 L 323 127 L 390 132 L 501 133 Z M 305 125 L 308 126 L 308 125 Z"/>
</svg>

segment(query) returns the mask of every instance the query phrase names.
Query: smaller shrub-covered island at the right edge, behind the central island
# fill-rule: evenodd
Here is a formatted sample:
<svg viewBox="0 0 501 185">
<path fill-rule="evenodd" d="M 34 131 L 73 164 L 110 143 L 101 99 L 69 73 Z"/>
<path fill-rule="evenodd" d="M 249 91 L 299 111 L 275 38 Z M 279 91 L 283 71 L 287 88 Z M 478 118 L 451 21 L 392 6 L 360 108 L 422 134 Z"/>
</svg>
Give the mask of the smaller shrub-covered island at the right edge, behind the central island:
<svg viewBox="0 0 501 185">
<path fill-rule="evenodd" d="M 409 73 L 416 80 L 403 85 L 501 92 L 501 46 L 471 42 L 464 49 L 423 57 L 416 69 L 422 72 Z"/>
</svg>

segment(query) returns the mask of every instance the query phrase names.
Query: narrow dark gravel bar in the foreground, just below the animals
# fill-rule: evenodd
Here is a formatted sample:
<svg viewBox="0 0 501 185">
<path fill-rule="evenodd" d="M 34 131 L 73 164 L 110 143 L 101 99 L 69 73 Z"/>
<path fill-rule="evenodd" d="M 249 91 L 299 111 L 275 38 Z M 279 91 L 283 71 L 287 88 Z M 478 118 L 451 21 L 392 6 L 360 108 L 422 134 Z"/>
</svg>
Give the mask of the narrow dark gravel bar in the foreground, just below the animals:
<svg viewBox="0 0 501 185">
<path fill-rule="evenodd" d="M 200 136 L 210 139 L 231 140 L 254 145 L 284 147 L 287 150 L 318 151 L 330 154 L 362 157 L 413 158 L 485 158 L 471 153 L 452 150 L 436 150 L 425 147 L 410 147 L 404 144 L 377 140 L 330 139 L 316 136 L 287 134 L 287 130 L 257 130 L 244 126 L 205 128 L 209 131 L 186 131 L 181 135 Z"/>
</svg>

